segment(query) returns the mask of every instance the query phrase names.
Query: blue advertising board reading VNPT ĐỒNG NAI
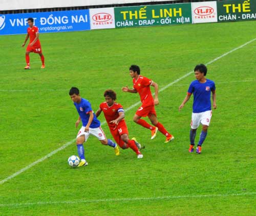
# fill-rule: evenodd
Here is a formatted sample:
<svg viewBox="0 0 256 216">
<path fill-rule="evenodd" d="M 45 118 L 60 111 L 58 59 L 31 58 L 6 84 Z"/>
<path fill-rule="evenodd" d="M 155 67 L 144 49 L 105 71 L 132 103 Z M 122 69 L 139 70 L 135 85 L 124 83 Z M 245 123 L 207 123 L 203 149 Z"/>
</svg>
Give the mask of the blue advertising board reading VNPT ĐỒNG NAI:
<svg viewBox="0 0 256 216">
<path fill-rule="evenodd" d="M 40 33 L 90 30 L 89 10 L 0 14 L 0 35 L 26 34 L 27 18 Z"/>
</svg>

